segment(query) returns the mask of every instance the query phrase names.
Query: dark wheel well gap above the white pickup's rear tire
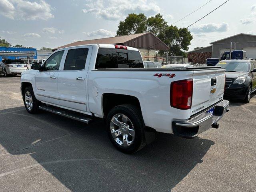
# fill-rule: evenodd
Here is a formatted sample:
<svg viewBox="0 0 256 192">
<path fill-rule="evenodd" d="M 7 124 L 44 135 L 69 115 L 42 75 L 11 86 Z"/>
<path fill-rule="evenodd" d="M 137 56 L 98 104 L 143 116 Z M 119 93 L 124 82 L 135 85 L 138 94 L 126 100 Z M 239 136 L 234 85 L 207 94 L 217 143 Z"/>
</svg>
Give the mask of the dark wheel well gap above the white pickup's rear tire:
<svg viewBox="0 0 256 192">
<path fill-rule="evenodd" d="M 102 108 L 104 116 L 107 116 L 108 112 L 115 106 L 121 104 L 132 104 L 137 106 L 140 110 L 140 102 L 138 98 L 130 95 L 105 93 L 102 98 Z"/>
</svg>

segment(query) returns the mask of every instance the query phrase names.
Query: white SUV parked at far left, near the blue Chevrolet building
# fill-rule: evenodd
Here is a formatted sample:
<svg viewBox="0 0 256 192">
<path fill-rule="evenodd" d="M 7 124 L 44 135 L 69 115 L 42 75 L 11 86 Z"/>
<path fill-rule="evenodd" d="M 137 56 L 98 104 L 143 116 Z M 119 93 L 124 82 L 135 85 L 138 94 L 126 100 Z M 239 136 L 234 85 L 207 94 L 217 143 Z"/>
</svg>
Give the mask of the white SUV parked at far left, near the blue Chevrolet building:
<svg viewBox="0 0 256 192">
<path fill-rule="evenodd" d="M 0 62 L 0 74 L 7 77 L 10 74 L 21 74 L 28 70 L 28 66 L 21 59 L 4 59 Z"/>
</svg>

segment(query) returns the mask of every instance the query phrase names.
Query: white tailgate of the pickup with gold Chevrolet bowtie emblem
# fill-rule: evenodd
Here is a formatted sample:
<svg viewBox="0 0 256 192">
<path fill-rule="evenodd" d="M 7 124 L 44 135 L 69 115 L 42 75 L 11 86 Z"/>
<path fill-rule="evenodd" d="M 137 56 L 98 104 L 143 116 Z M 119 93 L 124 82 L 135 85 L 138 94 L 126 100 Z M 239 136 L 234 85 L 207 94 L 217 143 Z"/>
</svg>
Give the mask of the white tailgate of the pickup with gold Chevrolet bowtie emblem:
<svg viewBox="0 0 256 192">
<path fill-rule="evenodd" d="M 194 70 L 190 115 L 196 114 L 223 99 L 225 69 Z"/>
</svg>

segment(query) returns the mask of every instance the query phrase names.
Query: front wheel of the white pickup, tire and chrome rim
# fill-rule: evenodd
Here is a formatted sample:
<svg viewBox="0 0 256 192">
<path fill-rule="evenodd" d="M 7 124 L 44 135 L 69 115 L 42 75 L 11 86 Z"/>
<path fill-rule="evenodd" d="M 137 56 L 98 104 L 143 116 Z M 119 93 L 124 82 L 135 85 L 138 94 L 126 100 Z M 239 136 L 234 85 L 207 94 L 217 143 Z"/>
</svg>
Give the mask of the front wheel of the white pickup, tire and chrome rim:
<svg viewBox="0 0 256 192">
<path fill-rule="evenodd" d="M 39 101 L 36 99 L 32 87 L 26 87 L 23 91 L 23 102 L 27 112 L 31 114 L 38 113 Z"/>
</svg>

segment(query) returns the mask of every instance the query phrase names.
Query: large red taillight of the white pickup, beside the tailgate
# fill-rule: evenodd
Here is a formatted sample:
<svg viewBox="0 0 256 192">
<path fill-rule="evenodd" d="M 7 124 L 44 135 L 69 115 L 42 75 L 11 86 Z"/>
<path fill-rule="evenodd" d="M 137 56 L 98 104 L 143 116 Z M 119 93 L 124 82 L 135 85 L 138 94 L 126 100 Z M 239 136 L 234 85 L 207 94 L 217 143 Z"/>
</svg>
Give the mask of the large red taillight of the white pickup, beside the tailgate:
<svg viewBox="0 0 256 192">
<path fill-rule="evenodd" d="M 193 80 L 174 81 L 170 88 L 170 104 L 177 109 L 190 109 L 192 104 Z"/>
</svg>

